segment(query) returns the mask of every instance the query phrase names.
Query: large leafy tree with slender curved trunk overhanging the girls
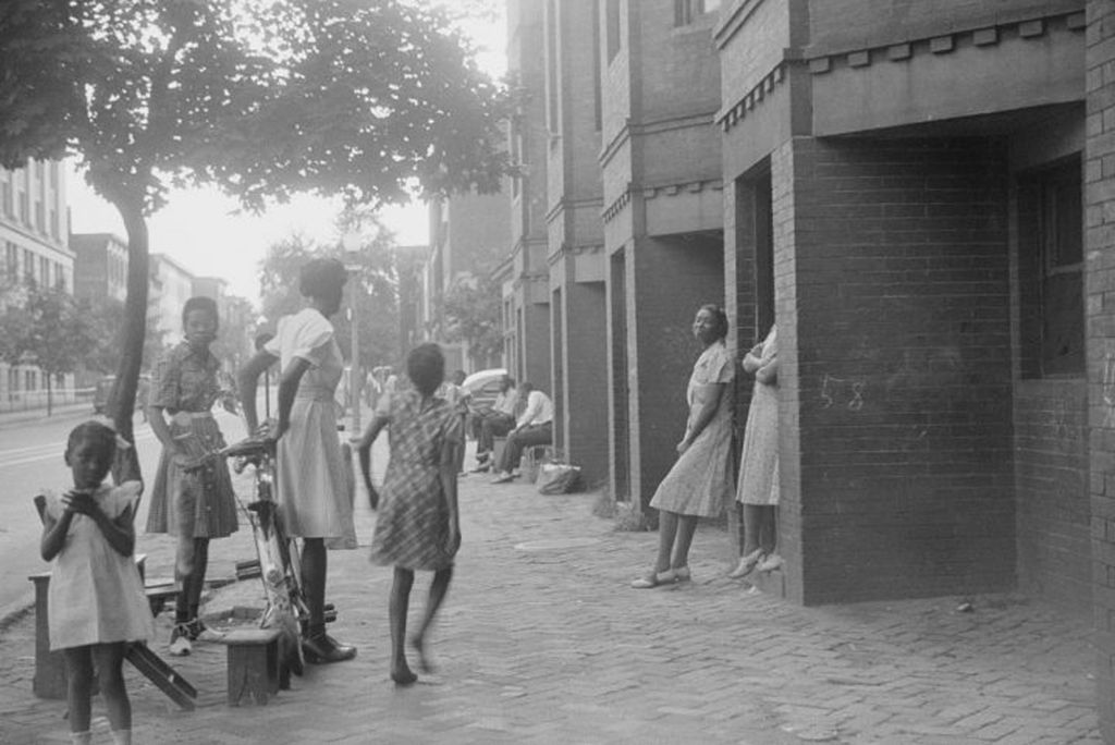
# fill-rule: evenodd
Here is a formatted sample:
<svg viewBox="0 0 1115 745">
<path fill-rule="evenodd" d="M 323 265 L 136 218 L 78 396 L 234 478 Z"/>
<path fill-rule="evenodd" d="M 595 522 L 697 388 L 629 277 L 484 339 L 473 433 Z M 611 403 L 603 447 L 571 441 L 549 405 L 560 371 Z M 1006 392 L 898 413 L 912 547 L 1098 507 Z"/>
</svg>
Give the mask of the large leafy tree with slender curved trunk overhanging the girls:
<svg viewBox="0 0 1115 745">
<path fill-rule="evenodd" d="M 78 155 L 127 231 L 120 434 L 142 364 L 146 217 L 169 187 L 216 184 L 254 210 L 295 192 L 401 201 L 416 180 L 498 188 L 503 98 L 458 28 L 407 0 L 0 3 L 0 164 Z"/>
</svg>

